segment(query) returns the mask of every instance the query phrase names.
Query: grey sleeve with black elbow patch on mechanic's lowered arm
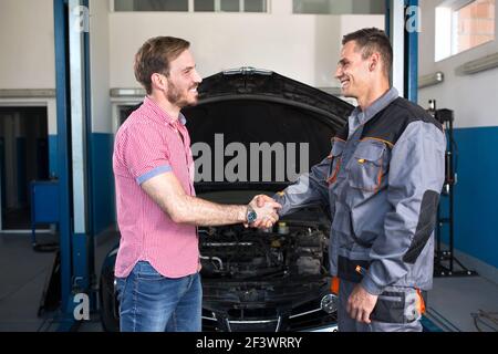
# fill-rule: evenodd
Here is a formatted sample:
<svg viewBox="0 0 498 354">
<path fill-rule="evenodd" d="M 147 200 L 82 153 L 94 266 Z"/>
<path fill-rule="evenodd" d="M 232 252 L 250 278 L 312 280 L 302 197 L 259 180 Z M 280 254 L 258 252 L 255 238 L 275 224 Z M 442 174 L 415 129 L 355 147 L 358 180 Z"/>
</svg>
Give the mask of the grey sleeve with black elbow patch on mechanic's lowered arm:
<svg viewBox="0 0 498 354">
<path fill-rule="evenodd" d="M 444 183 L 445 148 L 444 133 L 422 121 L 411 123 L 393 147 L 387 174 L 391 211 L 371 249 L 372 262 L 362 280 L 367 292 L 382 293 L 428 251 Z"/>
</svg>

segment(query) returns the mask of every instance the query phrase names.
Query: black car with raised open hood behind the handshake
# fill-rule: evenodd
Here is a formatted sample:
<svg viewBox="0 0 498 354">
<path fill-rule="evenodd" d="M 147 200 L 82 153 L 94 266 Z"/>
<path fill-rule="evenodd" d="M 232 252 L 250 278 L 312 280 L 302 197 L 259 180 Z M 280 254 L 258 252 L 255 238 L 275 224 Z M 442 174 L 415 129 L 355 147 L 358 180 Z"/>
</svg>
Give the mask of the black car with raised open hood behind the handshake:
<svg viewBox="0 0 498 354">
<path fill-rule="evenodd" d="M 197 196 L 247 204 L 272 196 L 330 154 L 353 106 L 278 73 L 242 67 L 206 77 L 183 110 Z M 333 331 L 330 210 L 308 205 L 271 229 L 199 227 L 203 331 Z M 100 280 L 104 329 L 118 330 L 117 247 Z"/>
</svg>

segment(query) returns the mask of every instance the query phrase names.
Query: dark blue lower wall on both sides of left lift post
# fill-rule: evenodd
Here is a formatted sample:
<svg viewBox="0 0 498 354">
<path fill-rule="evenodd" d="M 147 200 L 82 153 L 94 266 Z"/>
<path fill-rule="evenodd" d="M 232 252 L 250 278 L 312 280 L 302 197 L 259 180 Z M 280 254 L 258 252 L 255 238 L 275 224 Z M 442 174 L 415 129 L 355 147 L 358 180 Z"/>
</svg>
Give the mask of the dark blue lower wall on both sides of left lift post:
<svg viewBox="0 0 498 354">
<path fill-rule="evenodd" d="M 49 136 L 50 175 L 58 176 L 58 136 Z M 92 133 L 92 215 L 94 235 L 116 222 L 113 176 L 113 134 Z"/>
</svg>

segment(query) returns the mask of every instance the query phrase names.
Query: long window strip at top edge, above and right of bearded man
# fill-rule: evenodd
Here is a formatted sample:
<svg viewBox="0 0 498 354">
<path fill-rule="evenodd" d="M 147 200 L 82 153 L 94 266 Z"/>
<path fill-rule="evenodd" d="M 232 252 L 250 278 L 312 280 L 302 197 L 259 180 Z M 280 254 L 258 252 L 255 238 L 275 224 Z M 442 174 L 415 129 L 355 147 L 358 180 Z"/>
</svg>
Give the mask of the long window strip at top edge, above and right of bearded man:
<svg viewBox="0 0 498 354">
<path fill-rule="evenodd" d="M 114 0 L 114 11 L 268 12 L 268 0 Z"/>
</svg>

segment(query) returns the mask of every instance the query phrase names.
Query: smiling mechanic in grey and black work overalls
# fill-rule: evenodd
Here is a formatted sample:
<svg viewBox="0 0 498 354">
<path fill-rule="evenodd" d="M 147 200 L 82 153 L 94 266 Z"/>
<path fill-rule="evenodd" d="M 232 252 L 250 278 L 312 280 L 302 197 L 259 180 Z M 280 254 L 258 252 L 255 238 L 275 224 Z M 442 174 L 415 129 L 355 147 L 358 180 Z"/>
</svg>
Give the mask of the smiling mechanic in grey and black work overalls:
<svg viewBox="0 0 498 354">
<path fill-rule="evenodd" d="M 383 31 L 360 30 L 342 44 L 335 77 L 359 106 L 332 139 L 331 155 L 273 198 L 280 216 L 312 201 L 330 206 L 339 331 L 422 331 L 445 135 L 390 87 L 393 50 Z"/>
</svg>

